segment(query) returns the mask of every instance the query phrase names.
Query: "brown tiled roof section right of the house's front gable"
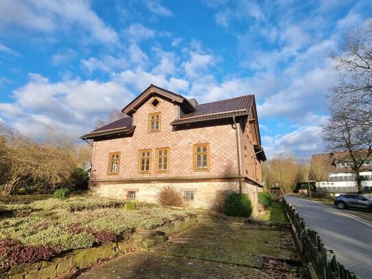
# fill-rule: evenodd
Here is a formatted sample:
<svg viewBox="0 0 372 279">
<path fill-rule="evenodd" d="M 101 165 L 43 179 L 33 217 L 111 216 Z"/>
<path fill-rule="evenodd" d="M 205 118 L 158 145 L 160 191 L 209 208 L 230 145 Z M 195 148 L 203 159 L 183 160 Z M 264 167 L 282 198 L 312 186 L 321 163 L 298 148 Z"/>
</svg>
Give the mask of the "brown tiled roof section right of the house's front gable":
<svg viewBox="0 0 372 279">
<path fill-rule="evenodd" d="M 253 103 L 253 95 L 245 95 L 212 103 L 199 104 L 195 112 L 182 115 L 171 124 L 190 123 L 196 121 L 208 121 L 232 116 L 247 115 Z"/>
</svg>

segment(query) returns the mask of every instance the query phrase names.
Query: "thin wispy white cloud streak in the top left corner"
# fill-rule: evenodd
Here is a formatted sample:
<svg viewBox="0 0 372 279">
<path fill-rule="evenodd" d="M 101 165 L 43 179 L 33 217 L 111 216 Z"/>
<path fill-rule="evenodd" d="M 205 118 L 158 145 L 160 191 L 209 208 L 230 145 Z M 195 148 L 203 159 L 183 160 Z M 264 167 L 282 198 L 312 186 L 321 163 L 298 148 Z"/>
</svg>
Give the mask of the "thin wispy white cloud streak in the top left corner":
<svg viewBox="0 0 372 279">
<path fill-rule="evenodd" d="M 21 27 L 53 34 L 62 28 L 79 28 L 101 43 L 116 43 L 116 32 L 105 25 L 90 8 L 89 1 L 4 0 L 0 9 L 0 29 Z"/>
</svg>

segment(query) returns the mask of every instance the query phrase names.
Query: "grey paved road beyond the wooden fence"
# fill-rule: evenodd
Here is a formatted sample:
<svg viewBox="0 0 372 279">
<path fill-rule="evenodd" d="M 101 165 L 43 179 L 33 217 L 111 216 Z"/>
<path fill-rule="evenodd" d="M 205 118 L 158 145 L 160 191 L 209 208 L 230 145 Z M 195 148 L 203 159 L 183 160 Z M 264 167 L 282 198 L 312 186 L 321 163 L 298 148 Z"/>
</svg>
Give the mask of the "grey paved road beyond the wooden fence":
<svg viewBox="0 0 372 279">
<path fill-rule="evenodd" d="M 300 217 L 316 230 L 339 263 L 362 278 L 372 276 L 372 222 L 301 197 L 286 196 Z"/>
</svg>

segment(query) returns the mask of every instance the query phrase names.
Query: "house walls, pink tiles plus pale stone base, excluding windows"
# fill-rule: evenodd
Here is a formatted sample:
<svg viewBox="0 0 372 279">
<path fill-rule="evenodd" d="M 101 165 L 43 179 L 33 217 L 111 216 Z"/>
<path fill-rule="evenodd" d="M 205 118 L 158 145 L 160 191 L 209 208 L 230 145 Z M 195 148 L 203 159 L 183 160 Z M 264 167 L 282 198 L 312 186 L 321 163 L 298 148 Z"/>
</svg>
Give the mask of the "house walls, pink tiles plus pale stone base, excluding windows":
<svg viewBox="0 0 372 279">
<path fill-rule="evenodd" d="M 181 193 L 194 192 L 190 206 L 211 208 L 219 193 L 238 191 L 241 185 L 243 192 L 249 194 L 256 204 L 257 193 L 262 191 L 261 165 L 253 147 L 257 135 L 253 135 L 249 121 L 245 129 L 241 129 L 239 124 L 233 125 L 232 119 L 177 129 L 171 122 L 179 119 L 179 104 L 166 97 L 157 98 L 160 104 L 156 108 L 151 106 L 153 97 L 136 108 L 132 114 L 132 125 L 136 127 L 133 134 L 95 139 L 90 180 L 93 191 L 124 199 L 129 191 L 135 191 L 136 199 L 157 202 L 158 192 L 164 186 L 173 186 Z M 153 112 L 161 112 L 160 132 L 148 132 L 149 114 Z M 208 171 L 193 169 L 193 145 L 197 143 L 210 145 Z M 166 173 L 155 171 L 155 150 L 160 147 L 169 147 L 169 171 Z M 140 149 L 151 149 L 150 173 L 138 172 Z M 111 152 L 120 152 L 119 173 L 116 175 L 108 173 Z"/>
</svg>

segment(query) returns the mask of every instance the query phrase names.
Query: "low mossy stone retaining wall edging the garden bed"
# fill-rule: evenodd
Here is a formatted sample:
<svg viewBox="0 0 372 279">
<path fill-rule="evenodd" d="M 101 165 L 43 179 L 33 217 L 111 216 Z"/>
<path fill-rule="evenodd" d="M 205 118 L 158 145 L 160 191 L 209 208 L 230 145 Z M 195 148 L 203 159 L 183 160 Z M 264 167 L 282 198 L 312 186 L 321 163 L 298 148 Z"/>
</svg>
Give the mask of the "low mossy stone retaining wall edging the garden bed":
<svg viewBox="0 0 372 279">
<path fill-rule="evenodd" d="M 197 216 L 188 216 L 183 220 L 172 221 L 164 226 L 153 230 L 127 230 L 118 237 L 117 243 L 107 243 L 62 252 L 51 260 L 42 260 L 37 263 L 23 263 L 12 267 L 6 274 L 0 274 L 0 278 L 10 279 L 51 279 L 60 277 L 73 269 L 83 269 L 98 260 L 114 258 L 127 252 L 127 248 L 136 247 L 146 249 L 165 241 L 166 235 L 182 232 L 197 223 Z"/>
</svg>

